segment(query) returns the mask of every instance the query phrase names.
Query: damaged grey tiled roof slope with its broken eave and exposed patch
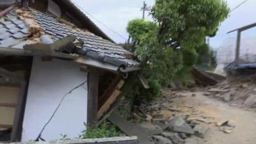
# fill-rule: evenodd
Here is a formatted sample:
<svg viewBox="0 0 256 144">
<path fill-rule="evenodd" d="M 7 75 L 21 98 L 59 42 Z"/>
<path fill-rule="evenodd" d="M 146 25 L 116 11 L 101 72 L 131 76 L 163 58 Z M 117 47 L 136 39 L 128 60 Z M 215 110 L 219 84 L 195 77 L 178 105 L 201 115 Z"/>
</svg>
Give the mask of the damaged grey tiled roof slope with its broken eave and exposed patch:
<svg viewBox="0 0 256 144">
<path fill-rule="evenodd" d="M 67 37 L 72 36 L 74 39 Z M 48 38 L 48 39 L 47 39 Z M 65 40 L 72 40 L 65 42 Z M 74 44 L 80 43 L 80 45 Z M 58 43 L 58 44 L 55 44 Z M 43 47 L 40 49 L 38 45 Z M 55 49 L 46 49 L 45 46 Z M 67 44 L 67 49 L 56 51 Z M 24 49 L 28 47 L 29 49 Z M 16 9 L 0 17 L 0 54 L 46 55 L 68 58 L 78 63 L 107 70 L 138 70 L 140 63 L 132 60 L 132 53 L 124 48 L 96 36 L 86 29 L 56 18 L 51 13 L 37 10 Z M 45 48 L 45 49 L 44 49 Z M 125 71 L 125 72 L 126 72 Z"/>
</svg>

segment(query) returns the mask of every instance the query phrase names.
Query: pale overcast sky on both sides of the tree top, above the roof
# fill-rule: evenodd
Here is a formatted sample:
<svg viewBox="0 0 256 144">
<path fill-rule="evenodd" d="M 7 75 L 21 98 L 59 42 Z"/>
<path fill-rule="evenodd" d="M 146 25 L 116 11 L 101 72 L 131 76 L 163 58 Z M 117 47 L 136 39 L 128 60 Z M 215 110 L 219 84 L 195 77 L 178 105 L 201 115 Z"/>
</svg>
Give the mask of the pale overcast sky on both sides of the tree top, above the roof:
<svg viewBox="0 0 256 144">
<path fill-rule="evenodd" d="M 128 38 L 126 31 L 127 23 L 129 20 L 141 18 L 141 7 L 143 6 L 143 0 L 72 0 L 79 5 L 86 15 L 99 26 L 108 36 L 110 36 L 116 43 L 124 43 Z M 148 6 L 154 5 L 154 0 L 145 0 Z M 244 0 L 227 0 L 230 9 L 236 7 Z M 90 13 L 90 15 L 88 14 Z M 96 18 L 93 19 L 93 17 Z M 148 13 L 146 13 L 146 19 L 152 20 Z M 106 28 L 106 25 L 108 28 Z M 236 33 L 227 35 L 227 32 L 256 22 L 256 0 L 248 0 L 242 6 L 230 13 L 223 24 L 221 24 L 218 34 L 211 38 L 210 43 L 212 47 L 219 47 L 221 42 L 228 37 L 235 37 Z M 109 29 L 110 28 L 110 29 Z M 115 32 L 113 32 L 115 31 Z M 242 36 L 256 36 L 256 28 L 244 31 Z"/>
</svg>

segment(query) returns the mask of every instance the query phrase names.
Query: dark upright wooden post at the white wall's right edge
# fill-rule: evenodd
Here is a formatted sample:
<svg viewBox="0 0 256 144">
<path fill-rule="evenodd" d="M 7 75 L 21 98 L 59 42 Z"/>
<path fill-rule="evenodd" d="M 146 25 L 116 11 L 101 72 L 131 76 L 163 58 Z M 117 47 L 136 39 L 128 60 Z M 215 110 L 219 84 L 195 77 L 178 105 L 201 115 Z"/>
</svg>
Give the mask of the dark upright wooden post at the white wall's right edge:
<svg viewBox="0 0 256 144">
<path fill-rule="evenodd" d="M 96 70 L 88 72 L 88 107 L 87 124 L 92 125 L 97 122 L 98 95 L 99 95 L 99 73 Z"/>
</svg>

